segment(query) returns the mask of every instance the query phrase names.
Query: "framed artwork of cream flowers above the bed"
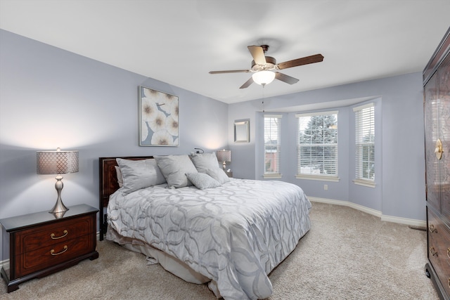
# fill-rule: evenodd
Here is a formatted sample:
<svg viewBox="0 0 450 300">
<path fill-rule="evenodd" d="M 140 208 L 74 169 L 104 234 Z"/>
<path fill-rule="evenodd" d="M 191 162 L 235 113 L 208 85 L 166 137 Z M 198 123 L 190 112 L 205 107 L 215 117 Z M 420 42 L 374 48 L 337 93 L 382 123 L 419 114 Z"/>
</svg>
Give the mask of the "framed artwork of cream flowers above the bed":
<svg viewBox="0 0 450 300">
<path fill-rule="evenodd" d="M 178 146 L 177 96 L 139 86 L 139 145 Z"/>
</svg>

